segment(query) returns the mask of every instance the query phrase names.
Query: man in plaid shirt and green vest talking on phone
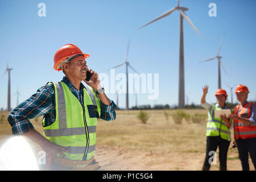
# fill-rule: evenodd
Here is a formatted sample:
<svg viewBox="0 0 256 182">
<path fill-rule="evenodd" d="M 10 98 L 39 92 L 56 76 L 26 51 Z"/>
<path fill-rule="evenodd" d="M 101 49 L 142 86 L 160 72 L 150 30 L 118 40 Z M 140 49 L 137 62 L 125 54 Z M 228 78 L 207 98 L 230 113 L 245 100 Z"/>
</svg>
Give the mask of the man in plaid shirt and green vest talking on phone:
<svg viewBox="0 0 256 182">
<path fill-rule="evenodd" d="M 9 114 L 13 134 L 28 137 L 46 152 L 47 169 L 100 169 L 94 159 L 97 121 L 113 121 L 117 105 L 104 93 L 98 74 L 88 69 L 88 57 L 74 44 L 59 48 L 53 68 L 63 71 L 63 79 L 48 82 Z M 30 122 L 41 115 L 44 136 Z"/>
</svg>

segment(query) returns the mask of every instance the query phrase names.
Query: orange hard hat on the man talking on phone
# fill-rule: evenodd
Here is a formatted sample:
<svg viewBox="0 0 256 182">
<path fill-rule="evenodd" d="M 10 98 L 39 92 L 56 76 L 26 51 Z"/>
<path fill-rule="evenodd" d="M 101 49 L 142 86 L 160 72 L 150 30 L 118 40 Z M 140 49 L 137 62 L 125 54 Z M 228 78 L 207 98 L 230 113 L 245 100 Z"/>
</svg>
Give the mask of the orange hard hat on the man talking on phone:
<svg viewBox="0 0 256 182">
<path fill-rule="evenodd" d="M 70 56 L 75 56 L 75 55 L 84 55 L 84 58 L 89 57 L 90 55 L 86 53 L 82 53 L 79 47 L 77 47 L 74 44 L 65 44 L 65 46 L 59 48 L 57 52 L 54 55 L 54 66 L 53 68 L 57 71 L 61 71 L 61 67 L 58 66 L 62 61 L 67 59 Z M 57 68 L 58 66 L 58 68 Z"/>
</svg>

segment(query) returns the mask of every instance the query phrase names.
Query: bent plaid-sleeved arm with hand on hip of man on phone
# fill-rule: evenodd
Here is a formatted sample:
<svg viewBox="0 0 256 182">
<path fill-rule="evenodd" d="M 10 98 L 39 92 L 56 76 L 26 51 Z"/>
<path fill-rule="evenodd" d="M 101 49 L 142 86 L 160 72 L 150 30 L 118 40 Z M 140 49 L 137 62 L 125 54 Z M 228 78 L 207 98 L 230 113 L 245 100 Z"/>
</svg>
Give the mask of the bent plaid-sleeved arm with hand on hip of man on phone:
<svg viewBox="0 0 256 182">
<path fill-rule="evenodd" d="M 7 119 L 12 127 L 13 135 L 24 135 L 42 147 L 47 154 L 56 154 L 57 152 L 64 157 L 65 155 L 61 150 L 66 151 L 65 148 L 44 138 L 42 134 L 34 129 L 29 120 L 47 114 L 53 109 L 51 98 L 53 91 L 54 89 L 49 85 L 38 89 L 30 98 L 15 107 Z"/>
</svg>

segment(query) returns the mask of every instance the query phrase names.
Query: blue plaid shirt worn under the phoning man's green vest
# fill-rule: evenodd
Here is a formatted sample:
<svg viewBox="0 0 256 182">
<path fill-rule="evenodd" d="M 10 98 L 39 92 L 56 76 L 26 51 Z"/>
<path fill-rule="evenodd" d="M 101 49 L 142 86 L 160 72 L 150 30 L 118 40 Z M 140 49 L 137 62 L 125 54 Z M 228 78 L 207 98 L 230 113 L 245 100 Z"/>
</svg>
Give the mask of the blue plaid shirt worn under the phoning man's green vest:
<svg viewBox="0 0 256 182">
<path fill-rule="evenodd" d="M 80 90 L 77 90 L 75 86 L 68 80 L 67 77 L 63 77 L 62 80 L 71 92 L 78 98 L 83 104 L 83 89 L 85 86 L 81 83 Z M 22 135 L 27 133 L 29 130 L 34 129 L 29 119 L 38 118 L 41 115 L 47 115 L 45 117 L 45 125 L 51 125 L 55 121 L 55 97 L 54 97 L 54 86 L 52 84 L 44 85 L 38 89 L 26 101 L 19 104 L 15 109 L 11 111 L 8 116 L 8 121 L 12 127 L 13 135 Z M 100 102 L 101 115 L 100 118 L 106 121 L 113 121 L 115 119 L 115 109 L 117 105 L 110 100 L 111 105 L 105 105 Z"/>
</svg>

